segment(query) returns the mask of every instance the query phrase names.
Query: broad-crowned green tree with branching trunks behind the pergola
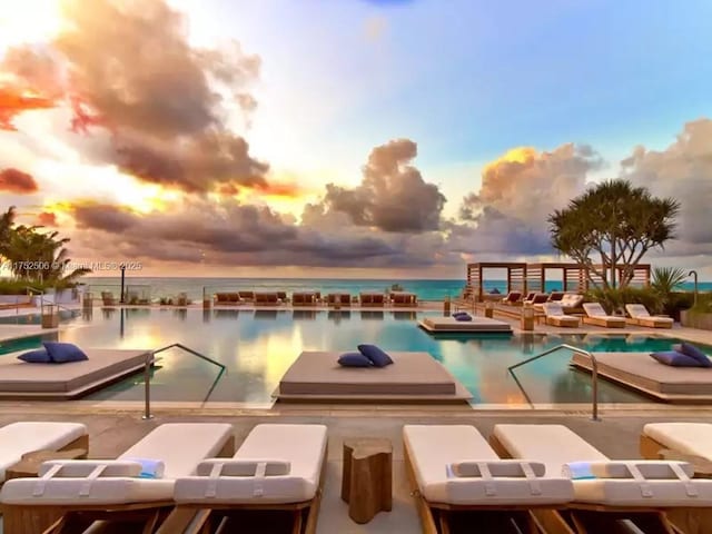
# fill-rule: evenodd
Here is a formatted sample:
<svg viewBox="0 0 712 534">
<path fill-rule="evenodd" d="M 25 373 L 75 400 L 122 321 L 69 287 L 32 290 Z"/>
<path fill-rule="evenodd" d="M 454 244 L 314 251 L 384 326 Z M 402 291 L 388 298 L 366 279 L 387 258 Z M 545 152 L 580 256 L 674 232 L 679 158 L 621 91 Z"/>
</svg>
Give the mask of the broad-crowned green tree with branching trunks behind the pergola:
<svg viewBox="0 0 712 534">
<path fill-rule="evenodd" d="M 653 197 L 627 180 L 604 181 L 550 215 L 551 240 L 555 249 L 589 267 L 594 285 L 623 289 L 649 250 L 675 238 L 679 211 L 673 198 Z"/>
</svg>

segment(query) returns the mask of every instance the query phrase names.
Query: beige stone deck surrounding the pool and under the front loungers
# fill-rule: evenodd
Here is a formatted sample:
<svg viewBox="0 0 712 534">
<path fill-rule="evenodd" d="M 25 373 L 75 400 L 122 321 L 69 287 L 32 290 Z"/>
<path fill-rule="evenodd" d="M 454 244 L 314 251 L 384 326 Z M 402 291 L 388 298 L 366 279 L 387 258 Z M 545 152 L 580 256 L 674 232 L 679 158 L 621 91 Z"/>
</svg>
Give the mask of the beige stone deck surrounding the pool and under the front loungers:
<svg viewBox="0 0 712 534">
<path fill-rule="evenodd" d="M 155 308 L 155 307 L 154 307 Z M 176 307 L 170 307 L 175 309 Z M 200 305 L 190 306 L 201 309 Z M 214 309 L 235 309 L 224 307 Z M 239 309 L 248 309 L 240 306 Z M 260 307 L 259 309 L 267 309 Z M 280 306 L 277 309 L 293 309 Z M 327 310 L 326 306 L 304 309 Z M 349 309 L 349 308 L 343 308 Z M 364 309 L 358 306 L 352 310 Z M 374 309 L 374 308 L 365 308 Z M 417 308 L 376 308 L 385 312 L 434 312 L 442 303 Z M 13 315 L 3 310 L 0 315 Z M 522 334 L 518 322 L 510 320 L 515 335 Z M 417 323 L 413 322 L 417 328 Z M 60 326 L 60 332 L 62 327 Z M 37 325 L 0 325 L 0 343 L 27 336 L 56 332 Z M 712 345 L 712 332 L 684 328 L 653 329 L 627 326 L 607 329 L 590 325 L 580 328 L 557 328 L 536 325 L 534 335 L 617 334 L 663 335 Z M 115 457 L 136 443 L 151 428 L 169 422 L 226 422 L 235 426 L 238 444 L 258 423 L 319 423 L 328 427 L 329 448 L 325 496 L 318 522 L 318 534 L 388 533 L 409 534 L 419 531 L 418 517 L 407 487 L 403 462 L 402 427 L 404 424 L 472 424 L 488 436 L 497 423 L 563 424 L 580 434 L 612 458 L 639 457 L 639 435 L 645 423 L 653 422 L 712 422 L 712 405 L 684 406 L 666 404 L 600 405 L 602 421 L 592 421 L 591 406 L 572 405 L 373 405 L 373 404 L 306 404 L 265 405 L 243 403 L 159 403 L 152 404 L 155 418 L 141 418 L 144 403 L 111 400 L 67 402 L 0 402 L 0 425 L 16 421 L 71 421 L 85 423 L 90 434 L 90 457 Z M 357 525 L 348 517 L 348 507 L 339 497 L 343 441 L 353 436 L 389 438 L 394 444 L 394 507 L 390 513 L 378 514 L 370 523 Z M 2 530 L 0 527 L 0 534 Z"/>
</svg>

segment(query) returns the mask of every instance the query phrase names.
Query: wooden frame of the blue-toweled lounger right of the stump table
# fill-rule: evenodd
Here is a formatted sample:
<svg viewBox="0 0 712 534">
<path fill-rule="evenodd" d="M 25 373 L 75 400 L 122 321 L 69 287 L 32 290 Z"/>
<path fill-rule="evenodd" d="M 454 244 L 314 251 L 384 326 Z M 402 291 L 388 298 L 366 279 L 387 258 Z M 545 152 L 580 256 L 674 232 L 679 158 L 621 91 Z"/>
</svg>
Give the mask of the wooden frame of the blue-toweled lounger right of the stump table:
<svg viewBox="0 0 712 534">
<path fill-rule="evenodd" d="M 512 458 L 507 448 L 500 442 L 496 435 L 490 436 L 490 445 L 501 458 Z M 688 534 L 673 526 L 669 518 L 670 512 L 695 511 L 700 508 L 651 508 L 642 506 L 607 506 L 601 504 L 586 504 L 572 502 L 558 511 L 542 513 L 533 511 L 540 521 L 546 521 L 552 527 L 567 528 L 551 531 L 555 533 L 568 532 L 570 534 L 597 534 L 611 532 L 610 523 L 616 520 L 632 520 L 635 525 L 646 534 Z M 550 532 L 550 531 L 544 531 Z"/>
</svg>

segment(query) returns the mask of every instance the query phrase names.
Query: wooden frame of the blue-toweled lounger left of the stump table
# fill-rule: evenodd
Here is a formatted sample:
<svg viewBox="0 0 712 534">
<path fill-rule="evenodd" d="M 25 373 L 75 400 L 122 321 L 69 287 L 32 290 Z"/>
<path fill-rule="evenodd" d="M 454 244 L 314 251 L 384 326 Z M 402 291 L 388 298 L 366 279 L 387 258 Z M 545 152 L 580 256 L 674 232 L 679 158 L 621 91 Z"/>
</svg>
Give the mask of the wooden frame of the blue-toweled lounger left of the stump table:
<svg viewBox="0 0 712 534">
<path fill-rule="evenodd" d="M 229 457 L 234 453 L 235 436 L 230 435 L 222 448 L 217 453 L 217 456 Z M 152 534 L 175 506 L 176 503 L 172 500 L 90 505 L 4 505 L 2 506 L 3 533 L 75 534 L 83 532 L 95 521 L 117 521 L 135 525 L 134 528 L 128 525 L 122 528 L 121 532 L 125 534 Z"/>
</svg>

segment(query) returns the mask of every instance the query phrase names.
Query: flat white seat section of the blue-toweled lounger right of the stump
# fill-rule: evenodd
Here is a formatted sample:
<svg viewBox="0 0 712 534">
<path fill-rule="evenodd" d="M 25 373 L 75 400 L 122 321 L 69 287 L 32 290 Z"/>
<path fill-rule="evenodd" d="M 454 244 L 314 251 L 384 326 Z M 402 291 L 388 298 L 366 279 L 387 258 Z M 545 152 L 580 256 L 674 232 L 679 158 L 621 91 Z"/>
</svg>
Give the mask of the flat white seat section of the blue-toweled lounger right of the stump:
<svg viewBox="0 0 712 534">
<path fill-rule="evenodd" d="M 609 457 L 564 425 L 495 425 L 500 443 L 514 458 L 546 465 L 546 475 L 561 475 L 570 462 L 606 462 Z"/>
</svg>

